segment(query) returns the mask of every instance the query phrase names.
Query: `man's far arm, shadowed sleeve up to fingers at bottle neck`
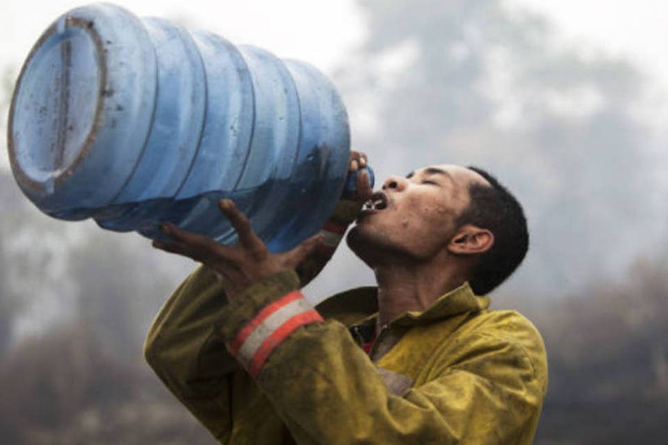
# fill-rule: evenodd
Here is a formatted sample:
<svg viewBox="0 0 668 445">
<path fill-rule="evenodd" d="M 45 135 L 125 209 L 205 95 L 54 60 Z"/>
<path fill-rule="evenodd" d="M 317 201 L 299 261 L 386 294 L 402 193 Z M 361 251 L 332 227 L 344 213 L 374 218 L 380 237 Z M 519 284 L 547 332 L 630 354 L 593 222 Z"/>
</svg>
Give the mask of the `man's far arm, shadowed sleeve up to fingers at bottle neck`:
<svg viewBox="0 0 668 445">
<path fill-rule="evenodd" d="M 366 165 L 364 154 L 351 153 L 351 168 Z M 324 243 L 296 266 L 301 285 L 314 278 L 331 259 L 341 236 L 370 195 L 368 177 L 358 179 L 358 199 L 342 200 L 321 230 Z M 154 319 L 145 341 L 145 357 L 172 393 L 219 441 L 228 442 L 231 428 L 230 381 L 243 373 L 225 348 L 221 313 L 225 290 L 211 268 L 200 266 L 178 287 Z"/>
</svg>

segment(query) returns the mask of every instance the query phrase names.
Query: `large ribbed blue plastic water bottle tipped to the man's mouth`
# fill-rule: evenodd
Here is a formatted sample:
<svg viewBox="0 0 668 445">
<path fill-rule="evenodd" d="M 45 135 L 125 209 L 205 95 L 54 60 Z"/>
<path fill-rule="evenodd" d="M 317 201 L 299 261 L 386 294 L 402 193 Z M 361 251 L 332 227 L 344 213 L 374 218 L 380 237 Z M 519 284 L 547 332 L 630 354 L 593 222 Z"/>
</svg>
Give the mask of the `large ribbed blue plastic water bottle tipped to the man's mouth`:
<svg viewBox="0 0 668 445">
<path fill-rule="evenodd" d="M 17 183 L 51 216 L 150 238 L 170 221 L 230 243 L 228 197 L 273 251 L 324 223 L 350 145 L 342 101 L 310 65 L 110 4 L 40 37 L 8 140 Z"/>
</svg>

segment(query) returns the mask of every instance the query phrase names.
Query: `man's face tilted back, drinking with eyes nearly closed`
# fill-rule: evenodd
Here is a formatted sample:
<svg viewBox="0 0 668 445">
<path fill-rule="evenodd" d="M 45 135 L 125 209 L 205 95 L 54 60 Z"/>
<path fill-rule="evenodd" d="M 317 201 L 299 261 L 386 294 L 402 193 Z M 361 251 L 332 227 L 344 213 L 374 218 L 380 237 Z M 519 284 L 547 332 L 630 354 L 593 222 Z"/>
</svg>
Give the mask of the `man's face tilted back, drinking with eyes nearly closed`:
<svg viewBox="0 0 668 445">
<path fill-rule="evenodd" d="M 430 165 L 388 178 L 348 234 L 350 248 L 371 266 L 394 254 L 433 257 L 456 234 L 455 221 L 470 202 L 473 181 L 488 184 L 459 165 Z"/>
</svg>

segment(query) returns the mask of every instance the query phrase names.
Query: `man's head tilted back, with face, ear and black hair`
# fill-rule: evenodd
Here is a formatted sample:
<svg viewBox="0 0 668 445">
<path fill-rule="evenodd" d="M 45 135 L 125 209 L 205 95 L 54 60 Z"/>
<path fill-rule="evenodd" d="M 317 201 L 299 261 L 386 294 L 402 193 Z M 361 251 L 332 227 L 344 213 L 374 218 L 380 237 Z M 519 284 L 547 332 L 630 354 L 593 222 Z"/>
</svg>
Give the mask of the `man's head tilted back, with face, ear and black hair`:
<svg viewBox="0 0 668 445">
<path fill-rule="evenodd" d="M 528 245 L 517 200 L 478 168 L 431 165 L 390 177 L 348 243 L 369 266 L 447 261 L 476 293 L 488 293 L 520 264 Z"/>
</svg>

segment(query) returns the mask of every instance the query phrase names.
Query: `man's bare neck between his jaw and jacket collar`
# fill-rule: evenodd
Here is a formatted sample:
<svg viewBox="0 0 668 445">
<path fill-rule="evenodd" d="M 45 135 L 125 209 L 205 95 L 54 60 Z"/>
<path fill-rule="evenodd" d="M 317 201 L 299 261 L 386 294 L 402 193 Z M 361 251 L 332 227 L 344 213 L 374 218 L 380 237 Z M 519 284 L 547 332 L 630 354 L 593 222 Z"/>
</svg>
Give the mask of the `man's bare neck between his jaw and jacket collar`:
<svg viewBox="0 0 668 445">
<path fill-rule="evenodd" d="M 378 282 L 379 326 L 404 312 L 423 312 L 444 293 L 466 281 L 449 264 L 385 264 L 374 268 Z"/>
</svg>

